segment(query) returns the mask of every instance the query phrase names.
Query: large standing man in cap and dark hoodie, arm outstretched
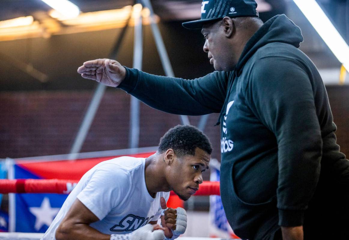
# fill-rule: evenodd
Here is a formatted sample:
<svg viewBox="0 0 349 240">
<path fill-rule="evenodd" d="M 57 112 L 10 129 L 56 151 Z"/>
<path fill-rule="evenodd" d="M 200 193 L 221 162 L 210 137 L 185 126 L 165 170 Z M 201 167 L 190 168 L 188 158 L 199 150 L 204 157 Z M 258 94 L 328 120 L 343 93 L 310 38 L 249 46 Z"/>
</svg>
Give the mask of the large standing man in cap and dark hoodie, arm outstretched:
<svg viewBox="0 0 349 240">
<path fill-rule="evenodd" d="M 254 0 L 203 1 L 203 51 L 217 72 L 194 80 L 150 75 L 115 60 L 84 62 L 82 77 L 158 110 L 220 113 L 221 196 L 242 239 L 349 239 L 349 161 L 336 144 L 317 68 L 285 15 L 266 23 Z"/>
</svg>

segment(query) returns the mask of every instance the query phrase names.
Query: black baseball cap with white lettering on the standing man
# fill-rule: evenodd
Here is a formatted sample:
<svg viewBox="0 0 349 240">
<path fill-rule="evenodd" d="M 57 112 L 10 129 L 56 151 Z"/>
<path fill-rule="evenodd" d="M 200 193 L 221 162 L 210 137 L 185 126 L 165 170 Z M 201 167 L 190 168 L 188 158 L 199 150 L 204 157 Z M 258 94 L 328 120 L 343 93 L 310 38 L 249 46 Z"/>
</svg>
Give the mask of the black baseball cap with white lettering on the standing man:
<svg viewBox="0 0 349 240">
<path fill-rule="evenodd" d="M 203 0 L 201 5 L 201 19 L 184 22 L 183 27 L 200 29 L 202 25 L 228 17 L 259 17 L 255 0 Z"/>
</svg>

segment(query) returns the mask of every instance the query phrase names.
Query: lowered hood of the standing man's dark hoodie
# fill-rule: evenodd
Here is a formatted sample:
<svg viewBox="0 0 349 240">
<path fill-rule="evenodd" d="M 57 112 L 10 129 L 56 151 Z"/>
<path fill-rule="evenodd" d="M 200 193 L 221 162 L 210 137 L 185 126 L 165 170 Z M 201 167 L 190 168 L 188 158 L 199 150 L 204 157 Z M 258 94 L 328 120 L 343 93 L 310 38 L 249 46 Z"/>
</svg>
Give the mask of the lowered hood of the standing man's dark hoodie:
<svg viewBox="0 0 349 240">
<path fill-rule="evenodd" d="M 268 43 L 287 43 L 295 47 L 303 42 L 302 32 L 286 15 L 276 15 L 265 22 L 260 29 L 248 40 L 244 51 L 236 65 L 236 75 L 241 74 L 248 59 L 261 47 Z"/>
</svg>

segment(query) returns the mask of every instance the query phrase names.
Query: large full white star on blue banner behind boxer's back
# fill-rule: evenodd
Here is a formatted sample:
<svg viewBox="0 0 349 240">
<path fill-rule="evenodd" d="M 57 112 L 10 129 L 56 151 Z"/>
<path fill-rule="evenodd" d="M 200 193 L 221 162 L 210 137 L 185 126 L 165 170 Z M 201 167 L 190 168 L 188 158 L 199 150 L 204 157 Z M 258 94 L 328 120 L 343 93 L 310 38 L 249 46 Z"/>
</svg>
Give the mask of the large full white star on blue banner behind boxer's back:
<svg viewBox="0 0 349 240">
<path fill-rule="evenodd" d="M 57 215 L 60 208 L 51 208 L 49 198 L 45 197 L 41 206 L 31 207 L 29 211 L 36 217 L 35 229 L 39 231 L 43 225 L 50 226 L 53 221 L 53 218 Z"/>
</svg>

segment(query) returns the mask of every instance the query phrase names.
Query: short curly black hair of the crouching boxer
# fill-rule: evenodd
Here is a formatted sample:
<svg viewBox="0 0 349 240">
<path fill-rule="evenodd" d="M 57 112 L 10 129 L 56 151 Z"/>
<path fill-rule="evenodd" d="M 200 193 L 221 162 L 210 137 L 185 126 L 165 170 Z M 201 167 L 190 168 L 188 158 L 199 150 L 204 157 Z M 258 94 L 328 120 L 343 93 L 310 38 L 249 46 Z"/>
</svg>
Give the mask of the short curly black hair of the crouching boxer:
<svg viewBox="0 0 349 240">
<path fill-rule="evenodd" d="M 170 148 L 178 156 L 194 156 L 196 148 L 200 148 L 208 154 L 212 153 L 212 145 L 208 137 L 198 128 L 189 125 L 177 125 L 160 138 L 157 152 L 163 153 Z"/>
</svg>

